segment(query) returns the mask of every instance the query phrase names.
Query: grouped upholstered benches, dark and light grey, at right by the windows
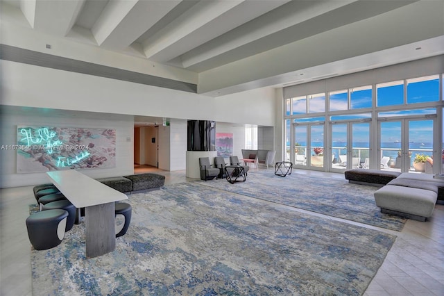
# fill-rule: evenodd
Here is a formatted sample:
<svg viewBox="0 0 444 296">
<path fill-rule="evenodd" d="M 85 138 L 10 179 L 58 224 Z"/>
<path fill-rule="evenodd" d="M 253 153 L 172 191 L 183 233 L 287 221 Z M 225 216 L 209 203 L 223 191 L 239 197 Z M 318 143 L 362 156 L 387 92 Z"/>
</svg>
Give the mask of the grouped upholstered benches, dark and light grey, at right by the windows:
<svg viewBox="0 0 444 296">
<path fill-rule="evenodd" d="M 436 202 L 444 200 L 444 179 L 432 174 L 347 170 L 350 183 L 379 186 L 375 203 L 382 213 L 425 221 L 431 217 Z"/>
</svg>

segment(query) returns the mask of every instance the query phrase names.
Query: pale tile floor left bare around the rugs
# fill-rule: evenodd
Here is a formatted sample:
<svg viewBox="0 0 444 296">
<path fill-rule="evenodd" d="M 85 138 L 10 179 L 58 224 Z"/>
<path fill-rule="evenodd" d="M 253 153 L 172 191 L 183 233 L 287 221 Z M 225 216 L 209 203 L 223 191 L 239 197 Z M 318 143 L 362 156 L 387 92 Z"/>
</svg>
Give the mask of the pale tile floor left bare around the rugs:
<svg viewBox="0 0 444 296">
<path fill-rule="evenodd" d="M 137 172 L 164 174 L 167 185 L 189 181 L 184 171 L 165 172 L 136 167 Z M 343 178 L 343 174 L 305 170 L 293 170 L 293 173 Z M 0 189 L 0 295 L 32 295 L 31 245 L 25 225 L 28 204 L 35 202 L 32 188 Z M 436 205 L 432 218 L 427 222 L 409 220 L 401 232 L 379 230 L 393 233 L 398 238 L 364 295 L 444 296 L 444 205 Z"/>
</svg>

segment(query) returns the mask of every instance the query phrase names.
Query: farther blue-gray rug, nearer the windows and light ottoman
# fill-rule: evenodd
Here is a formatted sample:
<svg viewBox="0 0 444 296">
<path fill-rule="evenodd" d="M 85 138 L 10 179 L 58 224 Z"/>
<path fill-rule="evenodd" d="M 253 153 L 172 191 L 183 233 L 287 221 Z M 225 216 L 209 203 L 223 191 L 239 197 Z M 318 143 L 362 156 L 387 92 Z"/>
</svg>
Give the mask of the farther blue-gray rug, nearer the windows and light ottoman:
<svg viewBox="0 0 444 296">
<path fill-rule="evenodd" d="M 293 170 L 276 176 L 274 170 L 248 172 L 246 182 L 230 184 L 225 179 L 197 181 L 205 186 L 235 192 L 268 202 L 401 231 L 407 219 L 381 213 L 373 192 L 378 188 L 348 183 L 345 179 L 307 176 Z"/>
</svg>

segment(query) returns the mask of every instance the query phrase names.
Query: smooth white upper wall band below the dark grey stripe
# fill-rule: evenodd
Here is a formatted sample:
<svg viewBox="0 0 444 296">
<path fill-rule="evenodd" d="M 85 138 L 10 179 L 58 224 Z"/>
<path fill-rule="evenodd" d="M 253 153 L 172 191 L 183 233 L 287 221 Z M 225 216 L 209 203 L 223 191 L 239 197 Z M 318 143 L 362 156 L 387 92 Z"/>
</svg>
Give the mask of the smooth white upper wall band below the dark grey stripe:
<svg viewBox="0 0 444 296">
<path fill-rule="evenodd" d="M 271 88 L 225 97 L 1 60 L 1 104 L 273 126 Z M 25 87 L 26 86 L 26 87 Z"/>
</svg>

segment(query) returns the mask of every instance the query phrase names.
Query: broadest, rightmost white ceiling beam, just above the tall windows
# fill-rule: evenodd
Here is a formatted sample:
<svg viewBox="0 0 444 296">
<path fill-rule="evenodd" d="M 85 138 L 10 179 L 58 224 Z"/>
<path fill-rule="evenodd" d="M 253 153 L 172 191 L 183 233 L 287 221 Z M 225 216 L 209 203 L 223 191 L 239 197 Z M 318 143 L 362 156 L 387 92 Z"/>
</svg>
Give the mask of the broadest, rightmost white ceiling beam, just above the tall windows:
<svg viewBox="0 0 444 296">
<path fill-rule="evenodd" d="M 418 1 L 210 69 L 199 74 L 198 93 L 228 94 L 290 83 L 301 73 L 311 80 L 443 54 L 443 8 L 440 1 Z"/>
</svg>

